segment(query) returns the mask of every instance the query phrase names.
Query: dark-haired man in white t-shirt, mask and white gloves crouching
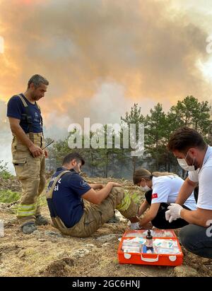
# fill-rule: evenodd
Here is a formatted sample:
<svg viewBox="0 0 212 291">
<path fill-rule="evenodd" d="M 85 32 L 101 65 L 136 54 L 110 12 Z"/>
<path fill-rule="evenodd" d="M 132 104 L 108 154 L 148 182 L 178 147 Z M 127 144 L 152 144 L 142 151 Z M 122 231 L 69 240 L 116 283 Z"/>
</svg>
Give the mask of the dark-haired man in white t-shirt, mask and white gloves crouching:
<svg viewBox="0 0 212 291">
<path fill-rule="evenodd" d="M 182 245 L 194 254 L 212 259 L 212 147 L 206 145 L 197 131 L 184 126 L 172 134 L 167 148 L 179 165 L 189 171 L 189 176 L 182 184 L 176 202 L 168 207 L 166 219 L 172 222 L 183 218 L 189 222 L 179 232 Z M 182 208 L 197 184 L 197 209 Z"/>
</svg>

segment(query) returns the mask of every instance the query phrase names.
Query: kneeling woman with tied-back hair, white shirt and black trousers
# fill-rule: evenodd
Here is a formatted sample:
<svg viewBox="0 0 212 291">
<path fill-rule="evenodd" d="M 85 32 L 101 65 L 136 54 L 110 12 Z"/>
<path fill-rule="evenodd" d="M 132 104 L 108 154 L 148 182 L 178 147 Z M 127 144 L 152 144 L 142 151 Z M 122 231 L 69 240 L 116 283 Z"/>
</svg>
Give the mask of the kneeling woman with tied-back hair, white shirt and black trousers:
<svg viewBox="0 0 212 291">
<path fill-rule="evenodd" d="M 175 203 L 179 189 L 184 180 L 177 174 L 168 172 L 149 172 L 146 169 L 139 168 L 134 172 L 134 184 L 140 186 L 141 191 L 146 192 L 146 200 L 139 208 L 138 216 L 141 216 L 148 208 L 146 215 L 139 222 L 131 223 L 131 229 L 142 228 L 152 222 L 154 227 L 160 229 L 175 229 L 188 225 L 188 222 L 179 218 L 172 222 L 165 219 L 165 211 L 170 203 Z M 185 201 L 183 208 L 187 210 L 196 209 L 194 193 Z"/>
</svg>

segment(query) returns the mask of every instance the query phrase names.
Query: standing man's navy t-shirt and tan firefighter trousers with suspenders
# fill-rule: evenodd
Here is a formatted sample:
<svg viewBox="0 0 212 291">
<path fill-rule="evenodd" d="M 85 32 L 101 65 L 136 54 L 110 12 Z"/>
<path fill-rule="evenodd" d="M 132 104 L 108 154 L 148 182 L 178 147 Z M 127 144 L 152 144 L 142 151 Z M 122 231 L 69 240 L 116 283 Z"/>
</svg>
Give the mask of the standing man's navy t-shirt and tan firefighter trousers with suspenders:
<svg viewBox="0 0 212 291">
<path fill-rule="evenodd" d="M 30 103 L 23 94 L 15 95 L 8 101 L 7 117 L 20 119 L 20 126 L 35 145 L 45 145 L 42 133 L 42 117 L 40 107 Z M 13 165 L 16 176 L 22 186 L 22 195 L 18 205 L 17 218 L 21 225 L 35 222 L 40 215 L 39 196 L 45 188 L 45 155 L 33 158 L 30 150 L 13 134 Z"/>
</svg>

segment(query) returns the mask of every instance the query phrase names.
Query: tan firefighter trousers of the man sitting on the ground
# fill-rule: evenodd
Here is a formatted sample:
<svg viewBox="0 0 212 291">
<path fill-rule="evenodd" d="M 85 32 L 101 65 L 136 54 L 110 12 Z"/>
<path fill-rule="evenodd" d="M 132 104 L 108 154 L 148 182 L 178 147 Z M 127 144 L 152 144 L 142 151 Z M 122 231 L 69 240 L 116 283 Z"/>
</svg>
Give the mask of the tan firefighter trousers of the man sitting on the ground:
<svg viewBox="0 0 212 291">
<path fill-rule="evenodd" d="M 114 209 L 118 209 L 125 218 L 133 218 L 138 213 L 138 205 L 126 194 L 122 187 L 114 187 L 100 205 L 89 203 L 85 199 L 84 212 L 81 220 L 67 228 L 61 219 L 57 216 L 52 218 L 52 225 L 60 230 L 63 234 L 71 235 L 72 237 L 89 237 L 98 228 L 100 228 L 107 220 L 114 215 Z M 125 207 L 126 206 L 126 207 Z"/>
</svg>

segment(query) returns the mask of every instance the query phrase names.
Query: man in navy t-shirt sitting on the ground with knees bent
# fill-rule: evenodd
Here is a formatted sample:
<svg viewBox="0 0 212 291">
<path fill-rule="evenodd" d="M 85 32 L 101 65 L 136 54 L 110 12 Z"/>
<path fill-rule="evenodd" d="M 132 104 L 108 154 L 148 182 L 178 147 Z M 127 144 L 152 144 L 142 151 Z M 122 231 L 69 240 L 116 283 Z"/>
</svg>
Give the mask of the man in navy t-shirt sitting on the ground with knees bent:
<svg viewBox="0 0 212 291">
<path fill-rule="evenodd" d="M 138 206 L 122 186 L 88 184 L 79 175 L 84 164 L 81 155 L 70 153 L 53 174 L 46 194 L 52 225 L 72 237 L 89 237 L 112 218 L 114 209 L 134 220 Z"/>
</svg>

